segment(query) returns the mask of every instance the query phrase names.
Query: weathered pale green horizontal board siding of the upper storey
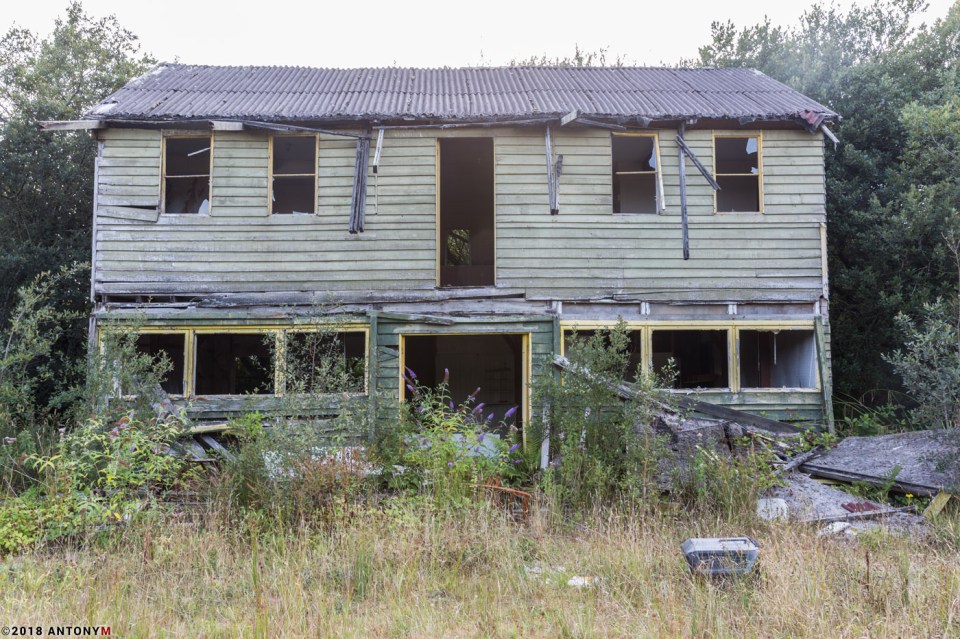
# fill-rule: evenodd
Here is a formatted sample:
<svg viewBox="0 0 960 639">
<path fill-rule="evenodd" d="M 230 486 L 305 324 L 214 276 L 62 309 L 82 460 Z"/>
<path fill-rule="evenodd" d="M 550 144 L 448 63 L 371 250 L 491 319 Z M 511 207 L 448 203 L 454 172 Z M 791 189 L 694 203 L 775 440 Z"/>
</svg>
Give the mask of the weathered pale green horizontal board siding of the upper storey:
<svg viewBox="0 0 960 639">
<path fill-rule="evenodd" d="M 214 135 L 208 215 L 162 215 L 161 133 L 102 133 L 96 290 L 116 294 L 432 289 L 436 138 L 494 136 L 497 284 L 530 295 L 815 300 L 821 294 L 822 140 L 764 131 L 764 213 L 715 213 L 687 163 L 691 259 L 681 259 L 674 131 L 660 132 L 666 210 L 615 215 L 610 134 L 559 130 L 560 213 L 548 205 L 542 129 L 394 130 L 370 175 L 366 232 L 347 233 L 355 142 L 323 136 L 316 215 L 267 213 L 268 138 Z M 687 132 L 712 167 L 713 132 Z M 371 153 L 372 155 L 372 153 Z M 144 208 L 146 207 L 146 208 Z"/>
</svg>

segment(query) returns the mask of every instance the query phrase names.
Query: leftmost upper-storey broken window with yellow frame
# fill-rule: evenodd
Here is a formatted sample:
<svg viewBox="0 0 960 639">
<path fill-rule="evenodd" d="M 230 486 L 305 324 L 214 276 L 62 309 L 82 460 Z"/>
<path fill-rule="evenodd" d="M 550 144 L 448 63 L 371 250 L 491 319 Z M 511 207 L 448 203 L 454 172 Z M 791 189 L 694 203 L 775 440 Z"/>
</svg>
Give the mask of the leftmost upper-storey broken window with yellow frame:
<svg viewBox="0 0 960 639">
<path fill-rule="evenodd" d="M 164 138 L 163 142 L 164 213 L 207 213 L 212 138 Z"/>
</svg>

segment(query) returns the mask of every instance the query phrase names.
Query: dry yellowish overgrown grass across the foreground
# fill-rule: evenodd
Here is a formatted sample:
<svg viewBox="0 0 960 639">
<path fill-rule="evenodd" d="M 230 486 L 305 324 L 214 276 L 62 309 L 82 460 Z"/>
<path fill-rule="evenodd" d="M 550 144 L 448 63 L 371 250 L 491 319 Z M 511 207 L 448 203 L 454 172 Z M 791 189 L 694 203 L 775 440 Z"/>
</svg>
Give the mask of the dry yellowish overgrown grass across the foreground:
<svg viewBox="0 0 960 639">
<path fill-rule="evenodd" d="M 5 624 L 104 624 L 123 637 L 934 637 L 960 633 L 960 545 L 613 514 L 518 526 L 483 506 L 392 500 L 333 528 L 177 517 L 8 559 Z M 689 536 L 749 533 L 757 579 L 688 574 Z M 574 575 L 592 587 L 567 585 Z"/>
</svg>

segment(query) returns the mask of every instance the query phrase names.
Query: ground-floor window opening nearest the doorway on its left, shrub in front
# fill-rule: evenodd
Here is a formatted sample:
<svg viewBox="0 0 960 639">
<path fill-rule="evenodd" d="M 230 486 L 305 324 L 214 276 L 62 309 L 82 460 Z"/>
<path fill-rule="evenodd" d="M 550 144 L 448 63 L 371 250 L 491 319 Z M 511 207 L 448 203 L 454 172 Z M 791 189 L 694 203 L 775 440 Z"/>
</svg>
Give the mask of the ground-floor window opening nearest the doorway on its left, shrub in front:
<svg viewBox="0 0 960 639">
<path fill-rule="evenodd" d="M 362 393 L 366 388 L 366 334 L 360 331 L 288 332 L 286 393 Z"/>
</svg>

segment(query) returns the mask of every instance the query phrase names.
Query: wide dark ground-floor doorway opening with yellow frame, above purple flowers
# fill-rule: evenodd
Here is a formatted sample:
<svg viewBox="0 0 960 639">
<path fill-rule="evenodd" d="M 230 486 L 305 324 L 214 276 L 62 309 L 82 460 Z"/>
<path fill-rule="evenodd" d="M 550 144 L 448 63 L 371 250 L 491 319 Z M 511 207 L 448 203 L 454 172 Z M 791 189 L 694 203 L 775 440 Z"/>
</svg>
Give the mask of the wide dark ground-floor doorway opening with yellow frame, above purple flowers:
<svg viewBox="0 0 960 639">
<path fill-rule="evenodd" d="M 478 387 L 484 418 L 499 426 L 504 414 L 523 404 L 522 335 L 417 335 L 404 340 L 404 365 L 424 386 L 443 381 L 450 371 L 450 398 L 455 404 Z M 522 410 L 517 411 L 516 423 Z M 511 419 L 512 421 L 512 419 Z"/>
</svg>

